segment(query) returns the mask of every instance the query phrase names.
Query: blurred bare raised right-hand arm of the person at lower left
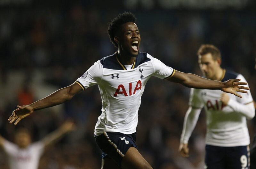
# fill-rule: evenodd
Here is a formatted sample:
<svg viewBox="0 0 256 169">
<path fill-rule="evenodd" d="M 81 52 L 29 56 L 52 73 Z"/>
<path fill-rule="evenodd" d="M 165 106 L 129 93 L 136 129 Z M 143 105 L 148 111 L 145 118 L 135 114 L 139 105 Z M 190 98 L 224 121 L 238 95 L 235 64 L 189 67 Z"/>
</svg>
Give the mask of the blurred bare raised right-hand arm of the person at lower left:
<svg viewBox="0 0 256 169">
<path fill-rule="evenodd" d="M 45 136 L 42 140 L 44 146 L 48 146 L 57 142 L 64 134 L 72 131 L 75 128 L 75 124 L 73 122 L 67 121 L 63 123 L 59 129 L 53 131 L 49 135 Z"/>
</svg>

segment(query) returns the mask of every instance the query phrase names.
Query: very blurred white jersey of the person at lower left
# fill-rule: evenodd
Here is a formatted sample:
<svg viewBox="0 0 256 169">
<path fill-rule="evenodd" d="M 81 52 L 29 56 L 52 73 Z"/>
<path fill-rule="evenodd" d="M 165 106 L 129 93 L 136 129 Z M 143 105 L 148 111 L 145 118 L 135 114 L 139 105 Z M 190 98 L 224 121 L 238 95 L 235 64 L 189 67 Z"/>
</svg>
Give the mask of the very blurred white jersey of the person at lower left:
<svg viewBox="0 0 256 169">
<path fill-rule="evenodd" d="M 8 156 L 10 169 L 37 169 L 44 144 L 36 142 L 27 148 L 21 149 L 16 144 L 4 141 L 4 151 Z"/>
</svg>

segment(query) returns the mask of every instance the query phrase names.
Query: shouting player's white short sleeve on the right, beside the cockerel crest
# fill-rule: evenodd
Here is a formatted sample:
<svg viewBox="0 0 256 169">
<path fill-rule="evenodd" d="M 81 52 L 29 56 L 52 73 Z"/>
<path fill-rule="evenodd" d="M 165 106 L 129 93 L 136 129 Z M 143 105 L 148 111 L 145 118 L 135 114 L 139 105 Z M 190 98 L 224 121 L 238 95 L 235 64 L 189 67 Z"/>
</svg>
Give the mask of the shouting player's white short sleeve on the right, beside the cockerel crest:
<svg viewBox="0 0 256 169">
<path fill-rule="evenodd" d="M 154 69 L 155 69 L 155 73 L 153 74 L 153 76 L 161 78 L 161 79 L 165 79 L 167 77 L 172 77 L 172 75 L 175 72 L 174 69 L 172 69 L 169 66 L 166 66 L 163 62 L 161 62 L 160 60 L 158 60 L 152 56 L 150 59 L 152 59 Z"/>
</svg>

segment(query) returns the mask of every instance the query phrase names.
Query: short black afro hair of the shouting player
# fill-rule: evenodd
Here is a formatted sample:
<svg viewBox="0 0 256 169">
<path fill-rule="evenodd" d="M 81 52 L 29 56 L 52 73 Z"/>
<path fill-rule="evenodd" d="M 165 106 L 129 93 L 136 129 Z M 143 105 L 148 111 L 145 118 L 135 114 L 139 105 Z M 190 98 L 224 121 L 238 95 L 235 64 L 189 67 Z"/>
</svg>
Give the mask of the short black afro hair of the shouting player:
<svg viewBox="0 0 256 169">
<path fill-rule="evenodd" d="M 120 26 L 127 22 L 136 22 L 136 17 L 132 14 L 132 12 L 121 13 L 116 18 L 112 19 L 111 22 L 108 23 L 108 37 L 116 48 L 117 43 L 114 40 L 115 34 L 117 30 L 120 28 Z"/>
</svg>

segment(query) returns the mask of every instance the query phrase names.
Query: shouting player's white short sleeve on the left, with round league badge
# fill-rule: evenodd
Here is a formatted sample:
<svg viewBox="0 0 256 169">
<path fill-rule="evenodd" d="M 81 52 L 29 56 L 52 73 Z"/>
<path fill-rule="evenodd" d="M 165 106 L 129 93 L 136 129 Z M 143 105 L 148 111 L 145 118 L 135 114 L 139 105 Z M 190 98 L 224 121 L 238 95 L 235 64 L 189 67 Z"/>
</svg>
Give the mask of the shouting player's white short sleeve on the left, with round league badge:
<svg viewBox="0 0 256 169">
<path fill-rule="evenodd" d="M 80 85 L 83 90 L 90 86 L 100 83 L 103 73 L 103 66 L 100 61 L 97 61 L 88 69 L 81 77 L 76 80 L 76 83 Z"/>
</svg>

